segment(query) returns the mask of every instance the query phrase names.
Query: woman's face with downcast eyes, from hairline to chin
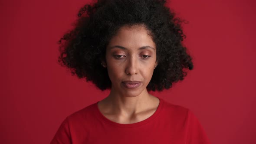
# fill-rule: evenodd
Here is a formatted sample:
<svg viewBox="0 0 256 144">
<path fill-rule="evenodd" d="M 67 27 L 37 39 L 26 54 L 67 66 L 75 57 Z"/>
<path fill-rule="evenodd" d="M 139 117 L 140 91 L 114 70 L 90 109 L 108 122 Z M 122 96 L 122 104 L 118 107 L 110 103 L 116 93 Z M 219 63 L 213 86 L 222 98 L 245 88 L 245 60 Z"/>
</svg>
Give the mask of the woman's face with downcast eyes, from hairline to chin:
<svg viewBox="0 0 256 144">
<path fill-rule="evenodd" d="M 157 65 L 155 43 L 143 26 L 123 26 L 109 42 L 102 63 L 108 69 L 112 93 L 144 94 Z"/>
</svg>

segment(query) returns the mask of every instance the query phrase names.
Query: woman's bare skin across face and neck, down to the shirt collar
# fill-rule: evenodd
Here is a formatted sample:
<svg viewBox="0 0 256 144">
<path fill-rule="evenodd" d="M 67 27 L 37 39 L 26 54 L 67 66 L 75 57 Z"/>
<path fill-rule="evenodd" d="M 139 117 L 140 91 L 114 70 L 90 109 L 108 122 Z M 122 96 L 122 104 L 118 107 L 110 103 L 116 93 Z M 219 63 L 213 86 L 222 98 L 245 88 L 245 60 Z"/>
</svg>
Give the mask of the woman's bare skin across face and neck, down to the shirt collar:
<svg viewBox="0 0 256 144">
<path fill-rule="evenodd" d="M 101 113 L 120 124 L 136 123 L 153 115 L 159 99 L 146 87 L 157 61 L 156 46 L 148 30 L 141 25 L 122 26 L 109 42 L 105 58 L 102 65 L 108 69 L 112 88 L 108 97 L 98 103 Z M 139 86 L 129 87 L 133 84 Z"/>
</svg>

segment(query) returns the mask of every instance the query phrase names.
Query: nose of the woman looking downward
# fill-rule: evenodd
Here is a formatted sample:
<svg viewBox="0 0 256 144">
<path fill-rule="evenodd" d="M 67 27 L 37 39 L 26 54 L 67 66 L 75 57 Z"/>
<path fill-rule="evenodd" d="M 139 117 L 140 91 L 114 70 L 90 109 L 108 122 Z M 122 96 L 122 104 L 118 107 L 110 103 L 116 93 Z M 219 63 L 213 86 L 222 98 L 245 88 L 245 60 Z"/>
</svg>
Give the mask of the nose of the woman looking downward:
<svg viewBox="0 0 256 144">
<path fill-rule="evenodd" d="M 130 57 L 129 59 L 127 59 L 125 73 L 127 75 L 137 75 L 138 66 L 138 59 L 136 59 L 136 56 Z"/>
</svg>

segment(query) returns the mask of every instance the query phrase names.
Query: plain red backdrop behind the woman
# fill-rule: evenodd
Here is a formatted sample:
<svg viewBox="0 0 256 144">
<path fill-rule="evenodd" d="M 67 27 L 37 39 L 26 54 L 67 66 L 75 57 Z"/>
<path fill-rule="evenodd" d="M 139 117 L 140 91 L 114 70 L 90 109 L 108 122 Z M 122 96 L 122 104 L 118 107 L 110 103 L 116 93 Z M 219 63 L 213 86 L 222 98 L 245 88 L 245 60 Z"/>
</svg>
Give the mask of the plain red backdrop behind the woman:
<svg viewBox="0 0 256 144">
<path fill-rule="evenodd" d="M 87 0 L 1 0 L 1 144 L 48 144 L 67 115 L 108 95 L 57 64 Z M 194 70 L 153 94 L 190 108 L 212 144 L 256 143 L 253 0 L 172 0 Z"/>
</svg>

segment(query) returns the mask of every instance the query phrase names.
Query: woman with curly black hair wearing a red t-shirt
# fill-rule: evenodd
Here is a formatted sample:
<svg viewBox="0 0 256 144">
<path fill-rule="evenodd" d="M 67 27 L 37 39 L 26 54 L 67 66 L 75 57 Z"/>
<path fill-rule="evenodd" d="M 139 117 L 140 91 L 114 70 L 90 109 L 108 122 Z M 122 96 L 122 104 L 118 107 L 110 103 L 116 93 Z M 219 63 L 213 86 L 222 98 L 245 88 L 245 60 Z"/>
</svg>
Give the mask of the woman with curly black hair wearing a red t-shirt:
<svg viewBox="0 0 256 144">
<path fill-rule="evenodd" d="M 61 38 L 59 62 L 111 92 L 61 124 L 51 144 L 209 144 L 187 108 L 150 95 L 193 69 L 165 0 L 98 0 Z"/>
</svg>

